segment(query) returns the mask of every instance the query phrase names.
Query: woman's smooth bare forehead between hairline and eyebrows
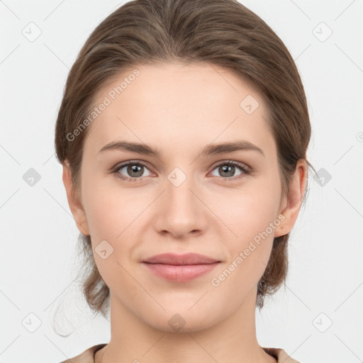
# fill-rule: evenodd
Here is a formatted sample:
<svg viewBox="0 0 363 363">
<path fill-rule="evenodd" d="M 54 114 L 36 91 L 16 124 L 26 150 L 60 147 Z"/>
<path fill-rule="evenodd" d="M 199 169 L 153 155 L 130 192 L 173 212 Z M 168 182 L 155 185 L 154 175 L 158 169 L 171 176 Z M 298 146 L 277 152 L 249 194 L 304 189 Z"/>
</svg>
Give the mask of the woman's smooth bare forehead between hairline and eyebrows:
<svg viewBox="0 0 363 363">
<path fill-rule="evenodd" d="M 93 106 L 102 111 L 86 137 L 91 152 L 119 139 L 174 152 L 236 138 L 274 149 L 262 94 L 216 65 L 135 66 L 113 77 Z"/>
</svg>

